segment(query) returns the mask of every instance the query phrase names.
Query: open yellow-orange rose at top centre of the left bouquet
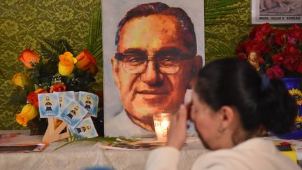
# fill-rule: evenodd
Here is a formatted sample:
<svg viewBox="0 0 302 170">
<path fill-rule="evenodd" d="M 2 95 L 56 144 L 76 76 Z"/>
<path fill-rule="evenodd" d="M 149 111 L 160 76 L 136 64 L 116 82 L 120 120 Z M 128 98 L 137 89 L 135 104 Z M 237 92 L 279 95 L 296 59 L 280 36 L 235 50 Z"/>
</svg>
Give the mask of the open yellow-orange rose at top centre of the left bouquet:
<svg viewBox="0 0 302 170">
<path fill-rule="evenodd" d="M 64 52 L 63 55 L 59 55 L 59 73 L 62 76 L 69 76 L 72 73 L 76 59 L 73 58 L 71 52 Z"/>
</svg>

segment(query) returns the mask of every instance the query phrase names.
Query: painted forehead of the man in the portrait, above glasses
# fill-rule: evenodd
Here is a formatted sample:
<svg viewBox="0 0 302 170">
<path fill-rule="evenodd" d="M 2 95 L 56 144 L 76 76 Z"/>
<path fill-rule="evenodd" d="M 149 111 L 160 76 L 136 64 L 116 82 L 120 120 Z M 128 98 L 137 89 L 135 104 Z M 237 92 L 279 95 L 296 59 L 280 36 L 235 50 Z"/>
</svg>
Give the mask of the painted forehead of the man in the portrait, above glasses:
<svg viewBox="0 0 302 170">
<path fill-rule="evenodd" d="M 122 28 L 117 49 L 152 48 L 169 43 L 183 45 L 180 22 L 173 15 L 154 14 L 135 17 Z"/>
</svg>

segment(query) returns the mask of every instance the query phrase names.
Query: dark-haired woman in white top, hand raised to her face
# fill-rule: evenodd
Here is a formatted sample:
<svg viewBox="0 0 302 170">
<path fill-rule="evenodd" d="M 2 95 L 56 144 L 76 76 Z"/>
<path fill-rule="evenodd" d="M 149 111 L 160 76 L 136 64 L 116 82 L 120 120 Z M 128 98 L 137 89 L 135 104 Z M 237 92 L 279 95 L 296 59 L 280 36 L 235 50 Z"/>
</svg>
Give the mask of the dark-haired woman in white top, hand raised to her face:
<svg viewBox="0 0 302 170">
<path fill-rule="evenodd" d="M 152 150 L 146 169 L 177 169 L 187 118 L 213 150 L 199 156 L 192 169 L 300 169 L 272 141 L 259 137 L 263 127 L 289 132 L 296 115 L 296 101 L 281 80 L 261 78 L 241 59 L 217 59 L 199 71 L 192 104 L 180 106 L 166 146 Z"/>
</svg>

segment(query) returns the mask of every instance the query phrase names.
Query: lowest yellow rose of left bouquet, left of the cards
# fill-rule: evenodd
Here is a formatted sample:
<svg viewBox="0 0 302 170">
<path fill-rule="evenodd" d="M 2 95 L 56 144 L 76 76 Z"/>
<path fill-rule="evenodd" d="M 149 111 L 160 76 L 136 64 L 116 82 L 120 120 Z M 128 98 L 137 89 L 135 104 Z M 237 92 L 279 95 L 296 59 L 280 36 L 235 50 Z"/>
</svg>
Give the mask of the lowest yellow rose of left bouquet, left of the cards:
<svg viewBox="0 0 302 170">
<path fill-rule="evenodd" d="M 36 118 L 36 115 L 38 115 L 36 108 L 32 104 L 27 104 L 22 108 L 21 113 L 16 115 L 16 121 L 20 125 L 26 127 L 27 122 Z"/>
</svg>

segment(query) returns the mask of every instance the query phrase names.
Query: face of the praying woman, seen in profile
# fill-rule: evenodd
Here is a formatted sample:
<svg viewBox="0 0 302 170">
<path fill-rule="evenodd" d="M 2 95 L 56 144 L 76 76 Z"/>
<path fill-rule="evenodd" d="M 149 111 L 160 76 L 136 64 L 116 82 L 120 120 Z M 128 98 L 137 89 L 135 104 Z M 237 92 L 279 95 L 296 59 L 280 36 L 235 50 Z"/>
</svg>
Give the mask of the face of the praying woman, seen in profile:
<svg viewBox="0 0 302 170">
<path fill-rule="evenodd" d="M 192 93 L 192 102 L 191 119 L 203 145 L 211 150 L 219 148 L 220 140 L 217 140 L 218 114 L 208 104 L 201 101 L 196 92 Z"/>
</svg>

